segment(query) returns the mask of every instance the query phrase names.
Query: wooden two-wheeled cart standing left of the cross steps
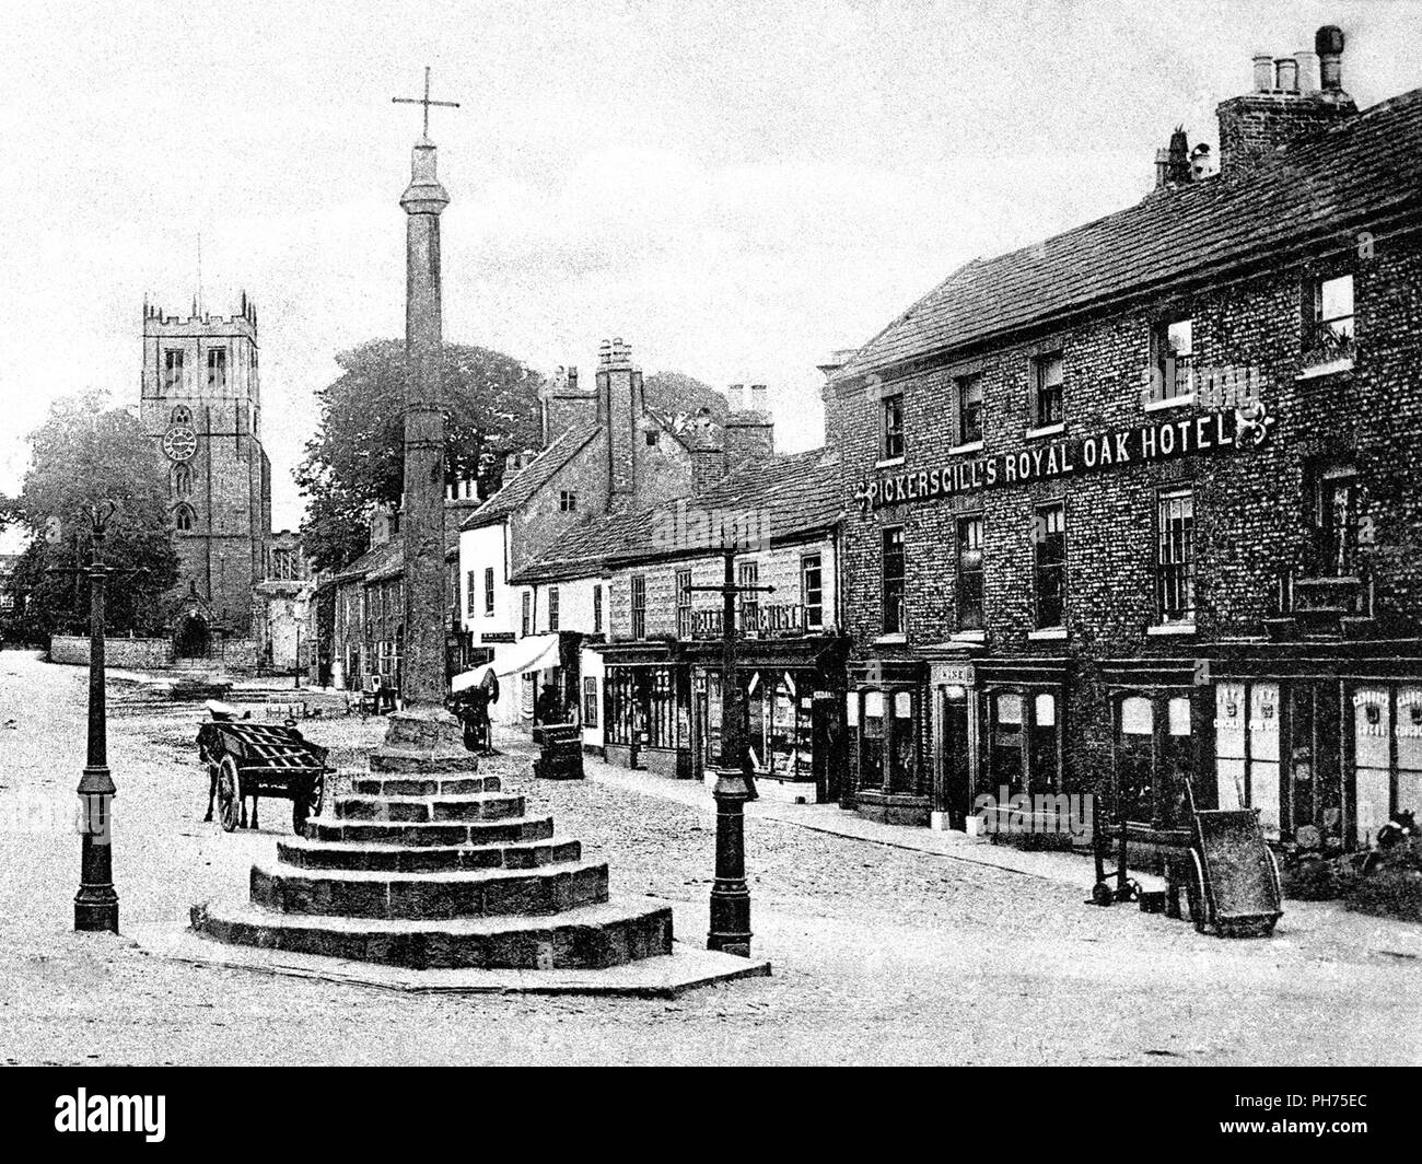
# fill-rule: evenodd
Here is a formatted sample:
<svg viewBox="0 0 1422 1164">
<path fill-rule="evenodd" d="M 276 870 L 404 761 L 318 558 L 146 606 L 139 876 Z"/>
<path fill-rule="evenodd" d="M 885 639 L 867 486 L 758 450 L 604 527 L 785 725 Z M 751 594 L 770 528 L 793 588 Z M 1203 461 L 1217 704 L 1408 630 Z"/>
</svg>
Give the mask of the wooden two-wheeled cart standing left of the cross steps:
<svg viewBox="0 0 1422 1164">
<path fill-rule="evenodd" d="M 247 827 L 245 800 L 252 797 L 252 828 L 257 827 L 257 801 L 274 797 L 292 801 L 292 828 L 300 834 L 309 817 L 321 811 L 326 797 L 327 748 L 303 739 L 294 727 L 213 719 L 198 729 L 198 751 L 208 764 L 208 815 L 213 798 L 226 832 Z"/>
</svg>

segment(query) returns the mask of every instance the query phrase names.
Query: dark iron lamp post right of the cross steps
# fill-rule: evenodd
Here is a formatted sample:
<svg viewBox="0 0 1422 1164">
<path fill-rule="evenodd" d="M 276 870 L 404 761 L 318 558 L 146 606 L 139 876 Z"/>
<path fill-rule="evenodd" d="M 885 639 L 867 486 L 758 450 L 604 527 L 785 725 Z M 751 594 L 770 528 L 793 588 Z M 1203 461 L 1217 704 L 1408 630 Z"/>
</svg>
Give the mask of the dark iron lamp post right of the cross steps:
<svg viewBox="0 0 1422 1164">
<path fill-rule="evenodd" d="M 715 882 L 711 887 L 711 929 L 707 949 L 751 956 L 751 891 L 745 884 L 745 803 L 755 785 L 745 771 L 745 739 L 741 733 L 741 683 L 735 670 L 735 599 L 745 592 L 774 586 L 735 585 L 735 551 L 721 551 L 725 581 L 720 586 L 693 586 L 721 595 L 721 754 L 715 766 Z"/>
</svg>

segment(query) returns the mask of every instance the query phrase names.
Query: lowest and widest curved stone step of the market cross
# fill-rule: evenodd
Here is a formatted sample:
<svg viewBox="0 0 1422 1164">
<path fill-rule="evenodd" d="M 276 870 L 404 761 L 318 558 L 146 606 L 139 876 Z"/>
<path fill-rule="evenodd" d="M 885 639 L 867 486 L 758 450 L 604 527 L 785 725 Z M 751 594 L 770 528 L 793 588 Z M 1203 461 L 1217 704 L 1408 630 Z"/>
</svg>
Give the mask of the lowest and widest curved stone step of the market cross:
<svg viewBox="0 0 1422 1164">
<path fill-rule="evenodd" d="M 619 901 L 556 918 L 447 921 L 290 915 L 208 902 L 192 908 L 192 928 L 219 942 L 418 970 L 600 970 L 671 953 L 671 909 Z"/>
</svg>

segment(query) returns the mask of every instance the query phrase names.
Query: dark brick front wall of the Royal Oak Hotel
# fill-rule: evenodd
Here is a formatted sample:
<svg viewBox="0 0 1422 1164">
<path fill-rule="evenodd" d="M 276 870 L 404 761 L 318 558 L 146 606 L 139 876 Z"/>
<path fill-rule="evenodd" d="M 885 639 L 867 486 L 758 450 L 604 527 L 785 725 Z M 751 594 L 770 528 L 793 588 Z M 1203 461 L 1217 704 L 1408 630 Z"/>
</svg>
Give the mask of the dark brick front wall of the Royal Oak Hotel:
<svg viewBox="0 0 1422 1164">
<path fill-rule="evenodd" d="M 1358 354 L 1352 371 L 1298 379 L 1303 360 L 1303 286 L 1317 275 L 1354 273 Z M 1003 485 L 863 514 L 855 490 L 873 478 L 879 397 L 903 391 L 903 470 L 939 468 L 973 455 L 1039 447 L 1028 427 L 1030 359 L 1064 351 L 1065 437 L 1129 428 L 1152 418 L 1197 416 L 1187 407 L 1146 411 L 1142 370 L 1150 357 L 1152 320 L 1193 319 L 1197 366 L 1250 366 L 1276 424 L 1264 447 L 1091 474 Z M 1156 622 L 1156 498 L 1165 485 L 1194 490 L 1199 639 L 1261 636 L 1277 602 L 1281 571 L 1307 559 L 1311 502 L 1308 470 L 1337 458 L 1357 465 L 1376 544 L 1364 551 L 1376 578 L 1379 620 L 1418 632 L 1422 610 L 1422 252 L 1418 242 L 1379 240 L 1372 258 L 1352 249 L 1175 303 L 1150 303 L 1031 343 L 1014 342 L 978 359 L 920 370 L 882 387 L 826 388 L 826 425 L 845 464 L 848 512 L 843 545 L 848 629 L 859 653 L 873 653 L 882 632 L 880 532 L 904 527 L 910 646 L 939 643 L 956 618 L 956 518 L 984 517 L 984 619 L 994 656 L 1069 655 L 1075 660 L 1068 716 L 1066 770 L 1105 771 L 1109 720 L 1096 690 L 1096 662 L 1139 653 L 1190 655 L 1194 640 L 1148 635 Z M 980 371 L 984 453 L 950 458 L 956 438 L 953 376 Z M 1057 438 L 1059 440 L 1059 438 Z M 897 472 L 900 470 L 889 470 Z M 1062 499 L 1066 522 L 1065 642 L 1030 639 L 1034 626 L 1031 522 L 1035 505 Z M 1072 720 L 1068 719 L 1068 723 Z M 1078 754 L 1072 756 L 1072 748 Z M 1081 767 L 1081 764 L 1086 767 Z"/>
</svg>

